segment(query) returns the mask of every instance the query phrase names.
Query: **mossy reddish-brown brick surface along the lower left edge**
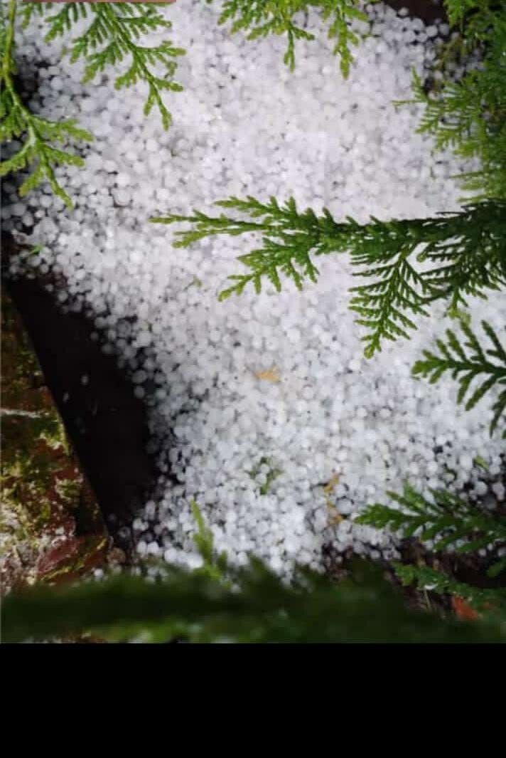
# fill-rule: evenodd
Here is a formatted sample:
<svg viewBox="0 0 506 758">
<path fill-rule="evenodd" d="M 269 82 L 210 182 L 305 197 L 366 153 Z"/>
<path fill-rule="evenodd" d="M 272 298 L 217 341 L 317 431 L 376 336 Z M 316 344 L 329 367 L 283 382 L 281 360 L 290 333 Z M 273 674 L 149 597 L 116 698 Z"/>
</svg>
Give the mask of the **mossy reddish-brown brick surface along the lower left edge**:
<svg viewBox="0 0 506 758">
<path fill-rule="evenodd" d="M 63 581 L 104 560 L 108 537 L 8 293 L 2 293 L 2 585 Z M 83 513 L 84 512 L 84 513 Z M 76 537 L 76 520 L 92 534 Z"/>
</svg>

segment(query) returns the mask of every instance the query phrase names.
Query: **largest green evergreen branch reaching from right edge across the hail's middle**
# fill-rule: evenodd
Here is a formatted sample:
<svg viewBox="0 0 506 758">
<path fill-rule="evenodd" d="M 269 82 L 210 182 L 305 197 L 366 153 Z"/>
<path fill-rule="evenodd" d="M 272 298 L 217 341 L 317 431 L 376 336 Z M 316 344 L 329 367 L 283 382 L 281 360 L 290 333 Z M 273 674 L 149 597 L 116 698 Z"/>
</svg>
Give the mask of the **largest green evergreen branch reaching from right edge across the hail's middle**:
<svg viewBox="0 0 506 758">
<path fill-rule="evenodd" d="M 253 197 L 216 205 L 243 218 L 194 211 L 151 221 L 192 224 L 190 230 L 176 232 L 176 247 L 216 234 L 262 236 L 258 249 L 237 258 L 250 272 L 228 277 L 233 284 L 220 293 L 221 300 L 241 294 L 250 283 L 258 293 L 265 280 L 279 291 L 281 274 L 300 290 L 305 278 L 315 281 L 318 275 L 312 257 L 349 252 L 352 265 L 359 268 L 355 275 L 371 280 L 352 288 L 351 301 L 358 323 L 368 329 L 362 338 L 367 357 L 380 350 L 385 339 L 408 337 L 408 330 L 416 327 L 412 315 L 427 315 L 433 300 L 447 299 L 455 311 L 467 296 L 485 296 L 486 290 L 498 290 L 506 281 L 504 202 L 484 201 L 437 218 L 371 218 L 368 224 L 352 218 L 338 223 L 327 209 L 319 216 L 311 208 L 298 211 L 293 198 L 283 205 L 275 198 L 262 203 Z"/>
</svg>

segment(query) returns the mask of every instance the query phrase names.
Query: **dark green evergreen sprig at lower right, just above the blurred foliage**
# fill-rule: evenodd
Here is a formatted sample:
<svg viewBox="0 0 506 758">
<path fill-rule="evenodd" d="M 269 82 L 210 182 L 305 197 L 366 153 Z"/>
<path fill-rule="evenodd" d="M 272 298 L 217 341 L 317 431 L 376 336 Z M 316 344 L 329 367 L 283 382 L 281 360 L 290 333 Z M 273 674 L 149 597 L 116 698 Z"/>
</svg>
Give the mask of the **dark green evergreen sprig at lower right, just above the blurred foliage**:
<svg viewBox="0 0 506 758">
<path fill-rule="evenodd" d="M 405 484 L 402 495 L 387 494 L 400 508 L 376 503 L 368 506 L 356 522 L 402 531 L 403 537 L 418 536 L 422 542 L 434 540 L 436 551 L 452 546 L 457 553 L 476 553 L 490 543 L 506 547 L 504 516 L 486 511 L 447 490 L 430 490 L 428 499 Z M 489 568 L 489 575 L 497 576 L 504 569 L 506 558 L 498 559 Z"/>
</svg>

